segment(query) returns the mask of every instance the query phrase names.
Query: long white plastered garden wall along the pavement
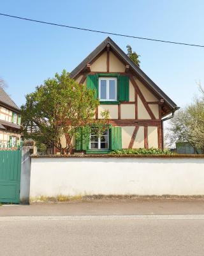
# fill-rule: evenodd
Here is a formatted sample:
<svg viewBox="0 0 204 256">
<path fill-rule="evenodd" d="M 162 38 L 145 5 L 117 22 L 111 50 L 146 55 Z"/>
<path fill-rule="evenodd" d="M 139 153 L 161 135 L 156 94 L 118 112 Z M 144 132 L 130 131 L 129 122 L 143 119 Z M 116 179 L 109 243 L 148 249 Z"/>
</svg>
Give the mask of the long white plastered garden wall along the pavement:
<svg viewBox="0 0 204 256">
<path fill-rule="evenodd" d="M 204 158 L 33 157 L 30 200 L 40 196 L 204 195 Z"/>
</svg>

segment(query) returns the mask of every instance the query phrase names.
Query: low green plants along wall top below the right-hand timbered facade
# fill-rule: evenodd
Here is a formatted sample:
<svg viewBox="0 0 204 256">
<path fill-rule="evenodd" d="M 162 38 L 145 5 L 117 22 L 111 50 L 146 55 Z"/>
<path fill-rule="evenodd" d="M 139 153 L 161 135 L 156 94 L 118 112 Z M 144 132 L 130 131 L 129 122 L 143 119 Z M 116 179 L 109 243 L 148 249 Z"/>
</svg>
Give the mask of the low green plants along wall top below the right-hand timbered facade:
<svg viewBox="0 0 204 256">
<path fill-rule="evenodd" d="M 122 150 L 115 150 L 111 154 L 117 155 L 170 155 L 173 154 L 168 149 L 160 149 L 160 148 L 129 148 Z"/>
</svg>

